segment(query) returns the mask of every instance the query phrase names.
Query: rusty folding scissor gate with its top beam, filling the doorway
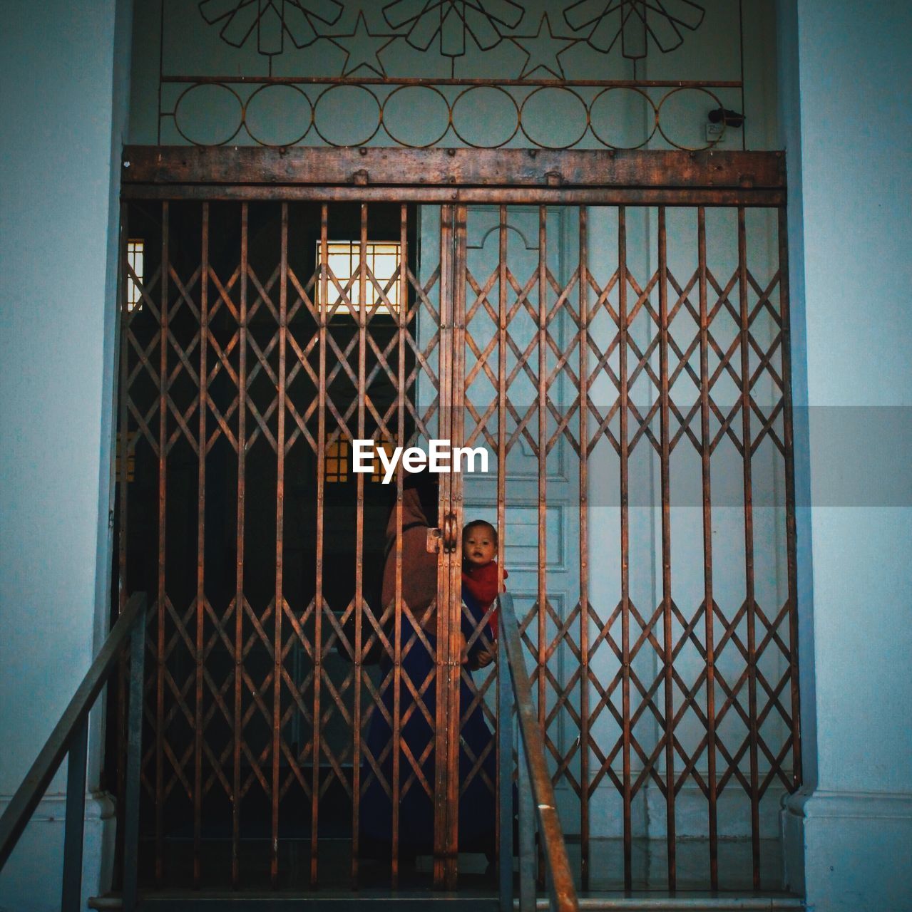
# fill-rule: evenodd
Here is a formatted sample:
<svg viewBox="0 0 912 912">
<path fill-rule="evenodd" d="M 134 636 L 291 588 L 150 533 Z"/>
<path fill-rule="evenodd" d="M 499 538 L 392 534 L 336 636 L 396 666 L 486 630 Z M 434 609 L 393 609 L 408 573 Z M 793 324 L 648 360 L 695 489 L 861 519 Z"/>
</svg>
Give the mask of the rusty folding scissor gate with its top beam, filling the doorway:
<svg viewBox="0 0 912 912">
<path fill-rule="evenodd" d="M 149 881 L 363 882 L 379 780 L 384 876 L 414 789 L 435 883 L 456 884 L 458 795 L 498 787 L 494 741 L 460 774 L 463 720 L 497 725 L 496 669 L 459 664 L 457 530 L 478 513 L 583 886 L 613 836 L 638 882 L 659 807 L 669 887 L 695 817 L 707 886 L 733 826 L 759 886 L 764 808 L 801 770 L 781 156 L 361 151 L 127 152 L 116 576 L 121 606 L 157 605 Z M 402 482 L 352 472 L 365 438 L 491 454 L 487 481 L 441 476 L 433 628 L 368 605 Z M 358 659 L 377 637 L 392 665 Z"/>
</svg>

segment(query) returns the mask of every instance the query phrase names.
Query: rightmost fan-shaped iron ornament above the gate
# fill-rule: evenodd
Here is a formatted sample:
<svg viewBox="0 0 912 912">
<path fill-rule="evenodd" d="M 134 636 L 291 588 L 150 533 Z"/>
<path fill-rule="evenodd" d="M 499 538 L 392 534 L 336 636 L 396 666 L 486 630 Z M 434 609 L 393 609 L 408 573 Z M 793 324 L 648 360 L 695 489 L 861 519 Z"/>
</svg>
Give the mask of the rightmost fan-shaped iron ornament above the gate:
<svg viewBox="0 0 912 912">
<path fill-rule="evenodd" d="M 646 56 L 649 38 L 663 54 L 680 47 L 681 29 L 696 31 L 706 10 L 693 0 L 578 0 L 563 16 L 576 32 L 592 26 L 593 49 L 607 54 L 620 38 L 621 53 L 635 60 Z"/>
</svg>

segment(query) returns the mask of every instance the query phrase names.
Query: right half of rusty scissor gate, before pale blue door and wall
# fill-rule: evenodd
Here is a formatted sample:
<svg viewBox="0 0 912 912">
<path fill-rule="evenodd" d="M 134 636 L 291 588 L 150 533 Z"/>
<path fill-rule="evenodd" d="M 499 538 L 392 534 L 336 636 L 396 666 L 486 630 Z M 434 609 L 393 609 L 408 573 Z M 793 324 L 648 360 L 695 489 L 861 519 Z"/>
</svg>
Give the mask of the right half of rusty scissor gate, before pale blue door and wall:
<svg viewBox="0 0 912 912">
<path fill-rule="evenodd" d="M 745 802 L 735 825 L 750 834 L 759 888 L 760 803 L 770 789 L 795 789 L 801 771 L 784 211 L 710 211 L 715 264 L 703 206 L 573 208 L 564 222 L 576 254 L 563 275 L 552 252 L 561 246 L 566 256 L 566 237 L 550 233 L 547 207 L 534 212 L 537 251 L 527 272 L 517 275 L 508 253 L 514 207 L 500 206 L 486 223 L 489 272 L 473 275 L 457 253 L 465 293 L 456 295 L 456 324 L 465 330 L 456 346 L 465 358 L 457 358 L 456 383 L 466 403 L 463 439 L 497 454 L 500 566 L 511 534 L 519 535 L 508 513 L 522 496 L 514 457 L 525 451 L 525 483 L 534 490 L 524 503 L 537 527 L 532 591 L 518 598 L 520 629 L 554 784 L 572 796 L 563 806 L 572 823 L 564 827 L 581 835 L 582 886 L 590 886 L 596 803 L 608 803 L 622 822 L 624 887 L 642 883 L 634 871 L 634 839 L 646 829 L 634 810 L 639 799 L 665 817 L 666 884 L 674 889 L 676 824 L 694 814 L 692 801 L 679 814 L 677 800 L 695 786 L 703 824 L 695 834 L 687 821 L 687 836 L 708 839 L 706 885 L 720 884 L 719 801 L 738 793 Z M 646 230 L 644 216 L 652 221 Z M 602 237 L 616 238 L 611 253 L 600 252 L 601 277 L 590 263 L 599 252 L 593 218 Z M 641 229 L 635 244 L 632 219 Z M 749 221 L 759 229 L 750 250 Z M 458 251 L 465 207 L 456 210 L 456 238 Z M 672 272 L 670 252 L 689 261 L 686 275 Z M 634 253 L 645 275 L 634 271 Z M 755 274 L 770 268 L 770 253 L 771 275 Z M 638 473 L 642 482 L 644 463 L 657 489 L 645 501 L 632 478 Z M 548 514 L 551 490 L 573 476 L 580 496 L 563 509 L 578 530 L 571 558 L 578 563 L 561 609 Z M 608 499 L 606 476 L 616 485 Z M 653 503 L 661 514 L 655 556 L 642 537 L 639 547 L 631 540 L 632 510 Z M 687 539 L 697 547 L 676 540 L 686 511 Z M 760 532 L 756 513 L 764 514 Z M 736 548 L 714 541 L 718 515 L 725 516 L 721 532 L 737 528 Z M 613 586 L 595 550 L 606 540 L 614 550 L 605 559 L 618 567 Z M 675 545 L 687 549 L 687 561 Z M 737 565 L 720 566 L 719 553 Z M 777 571 L 778 586 L 758 582 Z M 645 603 L 645 587 L 635 586 L 634 595 L 632 579 L 642 584 L 653 573 L 658 600 Z M 477 636 L 485 633 L 482 622 Z M 492 674 L 479 689 L 493 681 Z M 619 803 L 600 798 L 606 788 Z M 647 799 L 647 791 L 655 796 Z"/>
</svg>

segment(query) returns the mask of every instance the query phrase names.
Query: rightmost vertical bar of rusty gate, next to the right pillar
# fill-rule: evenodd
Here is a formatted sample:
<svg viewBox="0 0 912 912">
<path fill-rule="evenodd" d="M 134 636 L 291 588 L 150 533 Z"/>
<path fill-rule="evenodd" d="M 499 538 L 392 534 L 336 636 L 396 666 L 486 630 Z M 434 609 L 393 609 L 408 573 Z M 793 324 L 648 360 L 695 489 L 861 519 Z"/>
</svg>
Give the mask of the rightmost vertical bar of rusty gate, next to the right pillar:
<svg viewBox="0 0 912 912">
<path fill-rule="evenodd" d="M 798 565 L 795 555 L 795 451 L 791 403 L 791 316 L 789 305 L 788 213 L 779 216 L 779 307 L 782 321 L 782 437 L 785 444 L 785 547 L 789 586 L 789 664 L 791 683 L 791 784 L 802 782 L 801 691 L 798 678 Z"/>
</svg>

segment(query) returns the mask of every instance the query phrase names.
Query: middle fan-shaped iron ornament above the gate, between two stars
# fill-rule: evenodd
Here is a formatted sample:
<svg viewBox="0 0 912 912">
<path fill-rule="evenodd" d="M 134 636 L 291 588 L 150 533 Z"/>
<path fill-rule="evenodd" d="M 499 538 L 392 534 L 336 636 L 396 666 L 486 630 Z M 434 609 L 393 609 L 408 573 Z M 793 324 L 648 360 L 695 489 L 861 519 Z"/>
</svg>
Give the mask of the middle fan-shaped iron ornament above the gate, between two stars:
<svg viewBox="0 0 912 912">
<path fill-rule="evenodd" d="M 393 0 L 383 7 L 389 26 L 409 26 L 405 40 L 416 50 L 426 51 L 439 36 L 444 57 L 466 53 L 466 33 L 484 51 L 497 47 L 500 28 L 516 28 L 524 14 L 513 0 Z"/>
</svg>

